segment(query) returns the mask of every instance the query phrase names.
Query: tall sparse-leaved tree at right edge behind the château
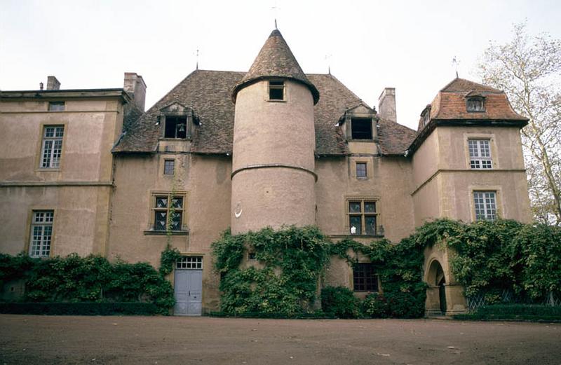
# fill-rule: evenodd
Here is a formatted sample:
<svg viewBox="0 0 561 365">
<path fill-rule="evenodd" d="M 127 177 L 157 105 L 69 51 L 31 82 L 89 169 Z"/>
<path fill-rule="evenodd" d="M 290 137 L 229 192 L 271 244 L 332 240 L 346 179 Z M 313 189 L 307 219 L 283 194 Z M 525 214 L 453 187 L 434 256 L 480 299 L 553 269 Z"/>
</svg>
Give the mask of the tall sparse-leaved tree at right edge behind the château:
<svg viewBox="0 0 561 365">
<path fill-rule="evenodd" d="M 529 118 L 522 146 L 534 218 L 561 226 L 561 40 L 530 37 L 525 27 L 514 25 L 508 43 L 491 42 L 479 71 Z"/>
</svg>

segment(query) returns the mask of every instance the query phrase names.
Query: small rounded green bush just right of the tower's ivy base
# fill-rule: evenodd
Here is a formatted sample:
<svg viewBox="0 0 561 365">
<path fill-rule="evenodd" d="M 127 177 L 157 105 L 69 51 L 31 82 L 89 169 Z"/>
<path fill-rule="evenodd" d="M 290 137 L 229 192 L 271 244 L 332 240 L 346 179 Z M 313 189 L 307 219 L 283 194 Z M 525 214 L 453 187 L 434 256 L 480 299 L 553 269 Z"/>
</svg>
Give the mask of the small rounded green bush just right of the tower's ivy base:
<svg viewBox="0 0 561 365">
<path fill-rule="evenodd" d="M 321 308 L 339 318 L 358 318 L 360 299 L 346 287 L 325 287 L 321 289 Z"/>
</svg>

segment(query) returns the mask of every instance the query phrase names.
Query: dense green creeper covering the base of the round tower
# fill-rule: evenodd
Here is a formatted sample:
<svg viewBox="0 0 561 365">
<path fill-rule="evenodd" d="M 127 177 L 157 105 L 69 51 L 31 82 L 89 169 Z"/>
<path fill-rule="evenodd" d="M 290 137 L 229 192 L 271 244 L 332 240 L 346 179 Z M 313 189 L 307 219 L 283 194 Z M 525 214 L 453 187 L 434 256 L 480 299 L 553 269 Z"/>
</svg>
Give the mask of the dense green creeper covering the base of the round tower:
<svg viewBox="0 0 561 365">
<path fill-rule="evenodd" d="M 212 244 L 215 268 L 221 273 L 221 310 L 245 312 L 309 312 L 318 280 L 329 261 L 329 243 L 316 227 L 231 235 Z M 255 252 L 259 267 L 241 268 L 245 250 Z"/>
</svg>

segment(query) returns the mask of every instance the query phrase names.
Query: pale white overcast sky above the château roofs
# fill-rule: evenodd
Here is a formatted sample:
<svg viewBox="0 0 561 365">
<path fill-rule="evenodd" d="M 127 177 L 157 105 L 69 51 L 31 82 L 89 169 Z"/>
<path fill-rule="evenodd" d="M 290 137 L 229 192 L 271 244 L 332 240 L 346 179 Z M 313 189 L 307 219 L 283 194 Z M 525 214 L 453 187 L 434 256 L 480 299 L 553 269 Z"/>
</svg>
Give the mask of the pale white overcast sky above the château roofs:
<svg viewBox="0 0 561 365">
<path fill-rule="evenodd" d="M 0 90 L 36 90 L 48 75 L 62 88 L 122 88 L 133 71 L 148 109 L 195 69 L 197 49 L 200 69 L 247 71 L 274 18 L 304 72 L 330 65 L 370 106 L 395 87 L 398 122 L 414 129 L 454 78 L 454 56 L 478 81 L 478 57 L 513 23 L 561 38 L 558 0 L 0 0 Z"/>
</svg>

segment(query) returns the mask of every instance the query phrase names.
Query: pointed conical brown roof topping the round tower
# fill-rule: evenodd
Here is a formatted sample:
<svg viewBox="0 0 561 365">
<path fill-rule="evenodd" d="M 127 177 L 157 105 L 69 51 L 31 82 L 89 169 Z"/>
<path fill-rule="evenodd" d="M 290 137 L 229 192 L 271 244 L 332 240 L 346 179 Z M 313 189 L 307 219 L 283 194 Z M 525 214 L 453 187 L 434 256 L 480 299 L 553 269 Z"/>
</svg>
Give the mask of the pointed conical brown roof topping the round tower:
<svg viewBox="0 0 561 365">
<path fill-rule="evenodd" d="M 245 88 L 245 86 L 256 83 L 259 80 L 275 77 L 290 78 L 303 83 L 310 89 L 313 95 L 313 104 L 318 102 L 320 98 L 318 89 L 308 80 L 278 29 L 271 32 L 255 61 L 253 61 L 248 73 L 234 86 L 232 99 L 236 102 L 238 91 Z"/>
</svg>

